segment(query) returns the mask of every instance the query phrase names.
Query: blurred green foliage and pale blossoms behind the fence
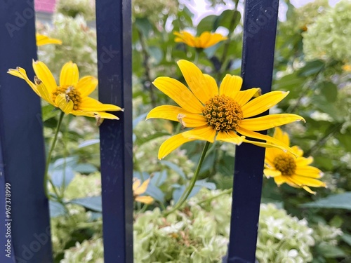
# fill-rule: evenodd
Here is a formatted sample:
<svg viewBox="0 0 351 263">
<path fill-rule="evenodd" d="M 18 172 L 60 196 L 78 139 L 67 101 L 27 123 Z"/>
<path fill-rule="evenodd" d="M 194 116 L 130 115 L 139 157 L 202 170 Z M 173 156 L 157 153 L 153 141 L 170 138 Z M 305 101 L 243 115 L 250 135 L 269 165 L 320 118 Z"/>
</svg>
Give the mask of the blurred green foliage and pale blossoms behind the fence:
<svg viewBox="0 0 351 263">
<path fill-rule="evenodd" d="M 37 23 L 39 32 L 62 40 L 61 46 L 39 48 L 39 59 L 56 76 L 67 59 L 77 63 L 81 76 L 97 76 L 92 3 L 60 0 L 52 25 Z M 202 143 L 185 144 L 159 161 L 159 145 L 177 133 L 180 123 L 145 121 L 153 107 L 173 103 L 152 86 L 152 81 L 157 76 L 184 81 L 177 60 L 196 61 L 203 72 L 218 82 L 225 74 L 240 74 L 243 1 L 212 0 L 213 10 L 224 11 L 197 21 L 189 3 L 132 2 L 134 176 L 141 180 L 152 177 L 145 194 L 155 200 L 152 205 L 135 203 L 138 262 L 154 262 L 157 255 L 164 262 L 185 262 L 184 255 L 192 255 L 198 260 L 194 262 L 220 262 L 227 244 L 228 230 L 218 230 L 216 226 L 218 222 L 229 224 L 234 145 L 213 144 L 201 170 L 201 180 L 191 194 L 197 201 L 190 199 L 175 215 L 164 218 L 160 211 L 183 193 Z M 299 145 L 306 157 L 314 157 L 312 165 L 323 170 L 322 180 L 328 188 L 317 189 L 317 195 L 312 196 L 302 189 L 277 187 L 272 179 L 265 179 L 262 201 L 271 204 L 261 207 L 256 256 L 259 262 L 351 262 L 351 1 L 340 0 L 329 6 L 328 1 L 317 0 L 296 8 L 285 0 L 281 5 L 286 9 L 286 19 L 279 21 L 277 29 L 272 90 L 289 90 L 290 94 L 271 113 L 294 113 L 306 119 L 305 124 L 293 123 L 283 128 L 292 145 Z M 204 31 L 220 32 L 228 39 L 199 50 L 174 41 L 173 32 L 180 30 L 197 36 Z M 44 104 L 43 119 L 48 142 L 57 112 Z M 62 262 L 102 262 L 99 170 L 98 128 L 90 119 L 69 116 L 51 165 L 53 182 L 67 203 L 65 208 L 51 203 L 56 262 L 64 257 Z M 210 203 L 216 202 L 208 207 L 206 198 Z M 201 200 L 204 205 L 197 203 Z M 198 231 L 190 227 L 198 217 L 204 219 L 199 222 L 199 229 L 210 225 L 211 229 Z M 273 226 L 275 229 L 270 229 Z M 171 230 L 166 231 L 166 227 Z M 289 228 L 296 231 L 289 232 Z M 218 242 L 220 247 L 216 246 Z M 162 243 L 174 250 L 165 250 Z"/>
</svg>

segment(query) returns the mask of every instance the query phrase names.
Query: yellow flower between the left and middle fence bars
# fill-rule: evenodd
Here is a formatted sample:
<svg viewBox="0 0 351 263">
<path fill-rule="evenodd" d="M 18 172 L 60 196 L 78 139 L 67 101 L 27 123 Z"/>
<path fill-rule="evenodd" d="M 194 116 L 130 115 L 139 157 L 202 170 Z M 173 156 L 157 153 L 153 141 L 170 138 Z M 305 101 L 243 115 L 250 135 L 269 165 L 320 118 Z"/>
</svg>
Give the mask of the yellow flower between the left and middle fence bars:
<svg viewBox="0 0 351 263">
<path fill-rule="evenodd" d="M 39 97 L 58 107 L 65 114 L 95 117 L 95 119 L 119 119 L 105 111 L 121 111 L 118 106 L 102 104 L 98 100 L 88 97 L 98 85 L 93 76 L 84 76 L 79 79 L 78 67 L 75 63 L 67 62 L 61 69 L 60 86 L 50 70 L 41 61 L 33 60 L 34 83 L 27 77 L 25 69 L 17 67 L 8 69 L 8 74 L 24 79 Z"/>
</svg>

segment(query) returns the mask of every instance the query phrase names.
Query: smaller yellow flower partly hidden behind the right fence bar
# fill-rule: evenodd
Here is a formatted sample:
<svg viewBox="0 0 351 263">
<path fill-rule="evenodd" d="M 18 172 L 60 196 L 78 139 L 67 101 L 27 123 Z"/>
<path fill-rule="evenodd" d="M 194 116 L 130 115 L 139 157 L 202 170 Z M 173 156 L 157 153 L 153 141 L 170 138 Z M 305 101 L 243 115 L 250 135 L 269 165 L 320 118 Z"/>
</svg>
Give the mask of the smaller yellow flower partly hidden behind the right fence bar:
<svg viewBox="0 0 351 263">
<path fill-rule="evenodd" d="M 273 137 L 287 145 L 290 144 L 289 135 L 280 128 L 275 128 Z M 278 186 L 286 183 L 291 187 L 303 188 L 311 194 L 316 193 L 310 187 L 326 187 L 324 182 L 317 180 L 322 177 L 322 171 L 309 166 L 313 161 L 312 156 L 303 157 L 303 150 L 297 146 L 293 146 L 291 149 L 298 158 L 280 149 L 266 149 L 265 170 L 263 171 L 265 176 L 273 177 Z"/>
</svg>

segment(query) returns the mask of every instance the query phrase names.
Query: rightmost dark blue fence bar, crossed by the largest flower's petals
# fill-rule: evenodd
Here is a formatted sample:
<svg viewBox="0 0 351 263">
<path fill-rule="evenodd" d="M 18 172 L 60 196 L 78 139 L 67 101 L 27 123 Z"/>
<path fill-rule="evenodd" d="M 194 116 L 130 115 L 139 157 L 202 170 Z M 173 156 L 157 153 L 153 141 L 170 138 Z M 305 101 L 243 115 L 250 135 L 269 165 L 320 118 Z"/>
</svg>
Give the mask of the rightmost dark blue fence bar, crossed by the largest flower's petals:
<svg viewBox="0 0 351 263">
<path fill-rule="evenodd" d="M 241 64 L 244 89 L 260 87 L 262 93 L 271 90 L 278 6 L 279 0 L 245 2 Z M 264 159 L 264 148 L 252 144 L 237 147 L 229 263 L 255 262 Z"/>
</svg>

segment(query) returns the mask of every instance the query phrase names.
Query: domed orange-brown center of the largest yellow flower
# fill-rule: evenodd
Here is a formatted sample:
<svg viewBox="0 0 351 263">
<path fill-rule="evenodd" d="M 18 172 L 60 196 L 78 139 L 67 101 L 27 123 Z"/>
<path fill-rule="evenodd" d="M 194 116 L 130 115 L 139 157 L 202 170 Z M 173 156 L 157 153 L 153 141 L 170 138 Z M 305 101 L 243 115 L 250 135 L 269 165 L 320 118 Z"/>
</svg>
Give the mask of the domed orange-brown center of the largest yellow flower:
<svg viewBox="0 0 351 263">
<path fill-rule="evenodd" d="M 244 119 L 240 105 L 231 97 L 216 95 L 206 102 L 202 110 L 208 126 L 218 131 L 237 130 Z"/>
</svg>

